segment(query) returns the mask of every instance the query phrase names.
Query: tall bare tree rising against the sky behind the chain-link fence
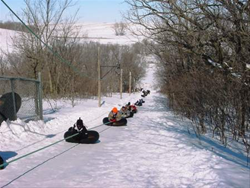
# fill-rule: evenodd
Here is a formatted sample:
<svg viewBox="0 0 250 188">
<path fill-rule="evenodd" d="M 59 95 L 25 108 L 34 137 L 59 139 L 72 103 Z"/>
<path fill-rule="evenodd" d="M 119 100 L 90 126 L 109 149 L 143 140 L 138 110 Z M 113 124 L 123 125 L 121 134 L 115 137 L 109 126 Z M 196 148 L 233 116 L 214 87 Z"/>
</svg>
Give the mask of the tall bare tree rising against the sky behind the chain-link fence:
<svg viewBox="0 0 250 188">
<path fill-rule="evenodd" d="M 38 72 L 47 71 L 50 91 L 53 93 L 55 68 L 52 66 L 60 66 L 60 63 L 56 57 L 51 58 L 53 55 L 47 46 L 54 49 L 59 37 L 69 42 L 67 37 L 72 36 L 75 15 L 70 19 L 65 19 L 64 13 L 74 3 L 73 0 L 25 0 L 25 4 L 23 19 L 27 25 L 31 26 L 33 33 L 30 31 L 20 33 L 20 36 L 14 39 L 13 44 L 24 57 L 23 64 L 28 68 L 26 69 L 28 76 L 36 78 Z M 64 43 L 67 42 L 64 41 Z"/>
</svg>

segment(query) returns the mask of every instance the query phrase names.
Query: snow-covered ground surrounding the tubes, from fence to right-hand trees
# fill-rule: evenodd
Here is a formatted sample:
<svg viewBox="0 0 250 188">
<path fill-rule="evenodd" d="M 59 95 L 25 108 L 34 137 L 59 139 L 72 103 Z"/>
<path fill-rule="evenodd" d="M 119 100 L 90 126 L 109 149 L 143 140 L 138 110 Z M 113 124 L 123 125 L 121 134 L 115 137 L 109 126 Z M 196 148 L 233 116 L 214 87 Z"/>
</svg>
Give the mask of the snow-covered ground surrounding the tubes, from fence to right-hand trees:
<svg viewBox="0 0 250 188">
<path fill-rule="evenodd" d="M 13 162 L 0 171 L 0 187 L 249 188 L 244 154 L 209 137 L 197 139 L 191 129 L 189 134 L 190 121 L 175 116 L 167 98 L 152 89 L 154 71 L 148 66 L 142 83 L 151 94 L 127 126 L 96 127 L 112 107 L 133 103 L 140 93 L 103 98 L 100 108 L 97 100 L 78 101 L 74 108 L 58 102 L 58 111 L 45 109 L 45 122 L 2 123 L 0 155 Z M 98 143 L 60 141 L 79 117 L 99 132 Z"/>
</svg>

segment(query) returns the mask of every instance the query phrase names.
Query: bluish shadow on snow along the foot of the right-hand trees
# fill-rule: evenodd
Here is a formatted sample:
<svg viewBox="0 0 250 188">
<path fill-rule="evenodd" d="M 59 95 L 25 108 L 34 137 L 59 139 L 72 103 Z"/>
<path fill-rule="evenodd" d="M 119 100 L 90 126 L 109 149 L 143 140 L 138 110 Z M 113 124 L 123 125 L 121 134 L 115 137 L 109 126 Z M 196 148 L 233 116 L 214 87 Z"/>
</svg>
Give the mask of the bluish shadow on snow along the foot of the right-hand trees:
<svg viewBox="0 0 250 188">
<path fill-rule="evenodd" d="M 154 104 L 157 106 L 147 106 L 147 109 L 141 109 L 141 111 L 150 111 L 150 112 L 161 112 L 164 113 L 164 116 L 158 117 L 161 119 L 161 122 L 152 121 L 149 127 L 155 127 L 157 125 L 158 129 L 162 129 L 168 132 L 180 134 L 179 140 L 182 144 L 187 145 L 187 141 L 191 139 L 190 144 L 199 149 L 206 149 L 214 153 L 217 156 L 222 157 L 228 161 L 234 162 L 244 168 L 250 168 L 247 164 L 247 157 L 242 153 L 237 153 L 232 149 L 223 146 L 217 140 L 201 135 L 196 136 L 192 129 L 192 122 L 187 118 L 181 118 L 174 115 L 174 112 L 171 112 L 170 108 L 167 107 L 168 100 L 164 96 L 155 96 Z M 190 127 L 192 130 L 190 130 Z M 184 136 L 185 135 L 185 136 Z M 187 139 L 188 138 L 188 139 Z"/>
</svg>

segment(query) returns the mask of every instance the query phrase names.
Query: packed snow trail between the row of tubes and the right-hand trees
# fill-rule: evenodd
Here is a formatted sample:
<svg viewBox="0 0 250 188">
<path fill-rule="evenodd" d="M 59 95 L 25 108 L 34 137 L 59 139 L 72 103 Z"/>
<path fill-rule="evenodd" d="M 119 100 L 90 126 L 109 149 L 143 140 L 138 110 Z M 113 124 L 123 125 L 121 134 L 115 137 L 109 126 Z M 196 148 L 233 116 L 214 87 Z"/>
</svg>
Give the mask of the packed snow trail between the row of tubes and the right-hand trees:
<svg viewBox="0 0 250 188">
<path fill-rule="evenodd" d="M 249 187 L 247 169 L 228 171 L 234 164 L 192 145 L 188 122 L 167 111 L 165 97 L 153 92 L 145 101 L 128 126 L 98 128 L 99 143 L 63 142 L 37 153 L 1 171 L 0 185 Z"/>
</svg>

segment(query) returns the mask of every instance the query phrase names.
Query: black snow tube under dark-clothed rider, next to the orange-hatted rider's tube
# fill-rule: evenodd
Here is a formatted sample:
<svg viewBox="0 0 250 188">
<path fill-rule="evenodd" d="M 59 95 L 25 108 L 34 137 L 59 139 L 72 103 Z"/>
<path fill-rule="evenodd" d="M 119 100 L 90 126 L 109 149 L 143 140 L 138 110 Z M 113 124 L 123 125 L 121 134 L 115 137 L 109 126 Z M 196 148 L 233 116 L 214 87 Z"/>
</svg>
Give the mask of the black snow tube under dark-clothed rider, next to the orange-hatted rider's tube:
<svg viewBox="0 0 250 188">
<path fill-rule="evenodd" d="M 74 134 L 77 134 L 78 131 L 75 130 L 73 127 L 70 127 L 67 132 L 64 133 L 64 138 L 73 136 Z M 89 144 L 89 143 L 96 143 L 99 139 L 99 133 L 96 131 L 87 131 L 87 134 L 79 133 L 76 136 L 73 136 L 71 138 L 67 138 L 66 142 L 71 143 L 83 143 L 83 144 Z"/>
</svg>

